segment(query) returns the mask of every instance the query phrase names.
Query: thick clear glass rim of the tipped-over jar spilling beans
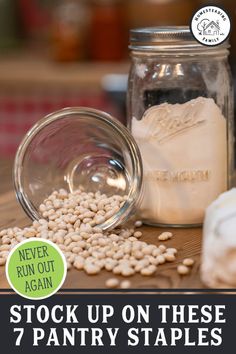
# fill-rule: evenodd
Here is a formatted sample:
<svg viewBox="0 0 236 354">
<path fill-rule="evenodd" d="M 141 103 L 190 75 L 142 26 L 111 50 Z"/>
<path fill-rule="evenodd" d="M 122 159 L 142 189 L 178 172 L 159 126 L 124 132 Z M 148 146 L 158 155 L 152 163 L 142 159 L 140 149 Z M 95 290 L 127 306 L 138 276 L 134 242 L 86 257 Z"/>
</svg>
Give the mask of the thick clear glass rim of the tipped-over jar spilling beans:
<svg viewBox="0 0 236 354">
<path fill-rule="evenodd" d="M 68 115 L 86 115 L 86 117 L 90 117 L 93 119 L 97 119 L 100 122 L 103 122 L 111 127 L 113 131 L 118 134 L 122 140 L 127 142 L 129 147 L 130 157 L 132 161 L 132 167 L 134 170 L 134 175 L 137 176 L 134 183 L 132 184 L 129 192 L 127 200 L 125 201 L 124 205 L 120 208 L 120 210 L 115 214 L 113 217 L 108 219 L 101 225 L 98 225 L 103 230 L 108 230 L 111 228 L 116 227 L 121 222 L 125 221 L 129 215 L 132 213 L 136 203 L 138 202 L 141 189 L 142 189 L 142 179 L 143 179 L 143 166 L 142 166 L 142 158 L 135 142 L 134 138 L 132 137 L 131 133 L 128 129 L 120 123 L 116 118 L 111 116 L 110 114 L 96 110 L 93 108 L 88 107 L 68 107 L 63 108 L 59 111 L 53 112 L 39 120 L 24 136 L 23 140 L 21 141 L 14 161 L 13 166 L 13 182 L 17 200 L 21 204 L 25 213 L 32 219 L 32 220 L 39 220 L 41 218 L 40 214 L 36 210 L 36 208 L 32 205 L 31 201 L 29 200 L 27 194 L 24 191 L 23 187 L 23 162 L 24 156 L 27 151 L 28 146 L 33 141 L 33 139 L 37 136 L 38 133 L 42 129 L 44 129 L 47 125 L 59 120 L 63 119 Z M 132 198 L 131 198 L 132 196 Z M 42 201 L 43 202 L 43 201 Z"/>
</svg>

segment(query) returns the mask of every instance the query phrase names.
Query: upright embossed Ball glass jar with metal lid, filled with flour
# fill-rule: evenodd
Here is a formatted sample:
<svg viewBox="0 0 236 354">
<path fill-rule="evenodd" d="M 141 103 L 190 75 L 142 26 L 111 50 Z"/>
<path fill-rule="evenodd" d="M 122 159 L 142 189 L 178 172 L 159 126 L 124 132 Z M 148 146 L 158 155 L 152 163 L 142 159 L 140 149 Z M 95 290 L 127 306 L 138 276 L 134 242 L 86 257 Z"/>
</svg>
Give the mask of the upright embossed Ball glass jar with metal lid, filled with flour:
<svg viewBox="0 0 236 354">
<path fill-rule="evenodd" d="M 131 30 L 129 127 L 141 151 L 148 224 L 197 226 L 233 176 L 227 42 L 198 43 L 188 27 Z"/>
</svg>

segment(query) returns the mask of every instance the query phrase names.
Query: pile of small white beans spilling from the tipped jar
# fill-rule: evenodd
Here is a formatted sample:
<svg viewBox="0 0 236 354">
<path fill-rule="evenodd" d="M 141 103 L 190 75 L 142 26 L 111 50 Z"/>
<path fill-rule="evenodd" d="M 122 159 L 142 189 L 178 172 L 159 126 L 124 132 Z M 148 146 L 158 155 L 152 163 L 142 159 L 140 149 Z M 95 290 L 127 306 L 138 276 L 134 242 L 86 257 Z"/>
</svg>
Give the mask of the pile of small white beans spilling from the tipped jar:
<svg viewBox="0 0 236 354">
<path fill-rule="evenodd" d="M 40 205 L 42 219 L 34 221 L 30 227 L 0 232 L 0 265 L 6 263 L 16 244 L 30 237 L 40 237 L 58 245 L 66 257 L 68 269 L 83 269 L 87 274 L 98 274 L 106 269 L 124 277 L 135 273 L 154 274 L 158 265 L 175 261 L 175 248 L 141 241 L 142 232 L 137 230 L 141 221 L 136 221 L 134 228 L 106 232 L 97 226 L 114 215 L 126 198 L 82 190 L 74 193 L 64 189 L 54 191 Z M 170 233 L 160 239 L 169 238 Z"/>
</svg>

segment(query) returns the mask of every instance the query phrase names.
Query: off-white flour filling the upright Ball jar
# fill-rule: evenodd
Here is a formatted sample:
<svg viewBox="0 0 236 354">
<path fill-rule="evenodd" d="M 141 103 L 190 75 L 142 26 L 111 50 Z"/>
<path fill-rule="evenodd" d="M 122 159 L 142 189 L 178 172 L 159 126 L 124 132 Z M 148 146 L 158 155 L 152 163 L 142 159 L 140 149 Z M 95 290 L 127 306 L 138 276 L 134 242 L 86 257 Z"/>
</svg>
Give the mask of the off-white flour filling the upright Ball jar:
<svg viewBox="0 0 236 354">
<path fill-rule="evenodd" d="M 154 224 L 198 224 L 227 189 L 226 119 L 211 98 L 164 103 L 132 119 L 144 165 L 140 216 Z"/>
</svg>

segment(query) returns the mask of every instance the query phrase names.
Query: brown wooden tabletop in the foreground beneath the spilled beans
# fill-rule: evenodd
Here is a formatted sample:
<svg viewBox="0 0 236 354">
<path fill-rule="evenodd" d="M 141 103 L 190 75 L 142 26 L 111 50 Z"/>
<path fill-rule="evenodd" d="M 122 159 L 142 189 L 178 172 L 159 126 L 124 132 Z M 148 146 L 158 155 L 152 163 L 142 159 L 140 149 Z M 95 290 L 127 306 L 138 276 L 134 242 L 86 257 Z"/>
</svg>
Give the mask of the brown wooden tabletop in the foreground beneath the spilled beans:
<svg viewBox="0 0 236 354">
<path fill-rule="evenodd" d="M 11 179 L 12 162 L 0 161 L 0 229 L 12 226 L 26 226 L 30 220 L 24 214 L 21 206 L 15 198 L 13 183 Z M 143 227 L 142 240 L 160 244 L 158 235 L 163 229 L 154 227 Z M 177 261 L 174 263 L 166 263 L 158 266 L 155 275 L 144 277 L 136 274 L 130 277 L 132 288 L 203 288 L 200 281 L 200 254 L 201 254 L 201 229 L 174 229 L 172 230 L 174 237 L 170 241 L 166 241 L 168 247 L 178 249 Z M 186 258 L 191 257 L 195 260 L 195 265 L 187 276 L 177 274 L 176 268 L 178 263 Z M 110 272 L 102 271 L 99 275 L 88 276 L 84 271 L 70 270 L 64 284 L 64 288 L 105 288 L 105 282 L 113 275 Z M 121 278 L 121 277 L 118 277 Z M 4 267 L 0 267 L 0 288 L 9 288 L 5 277 Z"/>
</svg>

